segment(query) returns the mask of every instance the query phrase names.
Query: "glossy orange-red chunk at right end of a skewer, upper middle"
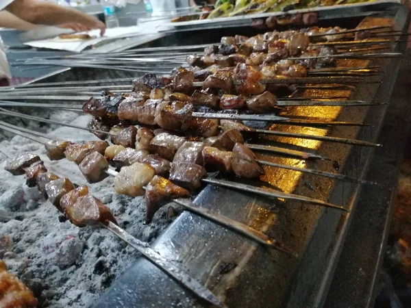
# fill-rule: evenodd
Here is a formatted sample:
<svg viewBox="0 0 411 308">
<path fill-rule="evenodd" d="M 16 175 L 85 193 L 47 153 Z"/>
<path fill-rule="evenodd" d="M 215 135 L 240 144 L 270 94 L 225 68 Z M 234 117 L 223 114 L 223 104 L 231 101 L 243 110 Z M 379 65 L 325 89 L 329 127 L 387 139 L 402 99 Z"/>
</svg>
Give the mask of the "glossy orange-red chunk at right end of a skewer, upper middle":
<svg viewBox="0 0 411 308">
<path fill-rule="evenodd" d="M 264 78 L 264 75 L 244 63 L 237 64 L 234 77 L 236 81 L 240 81 L 240 85 L 236 86 L 238 94 L 245 96 L 260 94 L 266 88 L 264 84 L 260 84 L 260 80 Z"/>
</svg>

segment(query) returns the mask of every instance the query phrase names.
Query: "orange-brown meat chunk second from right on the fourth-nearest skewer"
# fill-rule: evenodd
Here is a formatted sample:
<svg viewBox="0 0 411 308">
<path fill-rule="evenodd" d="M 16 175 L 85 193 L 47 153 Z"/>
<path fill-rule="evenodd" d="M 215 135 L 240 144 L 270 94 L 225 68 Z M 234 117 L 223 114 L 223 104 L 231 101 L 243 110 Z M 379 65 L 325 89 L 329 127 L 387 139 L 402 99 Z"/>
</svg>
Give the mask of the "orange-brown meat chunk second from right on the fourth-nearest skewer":
<svg viewBox="0 0 411 308">
<path fill-rule="evenodd" d="M 232 152 L 220 151 L 212 146 L 206 146 L 202 154 L 206 170 L 232 172 Z"/>
</svg>

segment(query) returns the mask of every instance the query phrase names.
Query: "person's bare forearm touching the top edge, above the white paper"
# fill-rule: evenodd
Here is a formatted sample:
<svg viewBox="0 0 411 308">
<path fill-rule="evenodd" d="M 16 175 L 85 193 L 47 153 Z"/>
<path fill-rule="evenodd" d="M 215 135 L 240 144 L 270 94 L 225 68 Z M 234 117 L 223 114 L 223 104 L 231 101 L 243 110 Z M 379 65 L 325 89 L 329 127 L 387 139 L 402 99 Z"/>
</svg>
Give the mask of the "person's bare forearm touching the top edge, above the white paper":
<svg viewBox="0 0 411 308">
<path fill-rule="evenodd" d="M 59 25 L 64 23 L 84 23 L 91 16 L 47 1 L 16 0 L 6 8 L 8 12 L 28 21 L 42 25 Z"/>
</svg>

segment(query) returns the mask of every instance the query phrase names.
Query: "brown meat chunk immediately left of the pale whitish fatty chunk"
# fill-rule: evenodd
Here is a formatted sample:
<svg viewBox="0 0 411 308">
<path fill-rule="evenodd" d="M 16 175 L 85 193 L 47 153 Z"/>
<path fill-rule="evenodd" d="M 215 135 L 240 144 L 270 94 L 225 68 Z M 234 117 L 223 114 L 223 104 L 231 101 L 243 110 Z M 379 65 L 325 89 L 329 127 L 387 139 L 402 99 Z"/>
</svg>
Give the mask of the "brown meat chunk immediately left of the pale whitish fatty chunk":
<svg viewBox="0 0 411 308">
<path fill-rule="evenodd" d="M 97 183 L 108 177 L 105 171 L 108 170 L 108 162 L 98 152 L 88 154 L 79 164 L 79 169 L 88 183 Z"/>
</svg>

